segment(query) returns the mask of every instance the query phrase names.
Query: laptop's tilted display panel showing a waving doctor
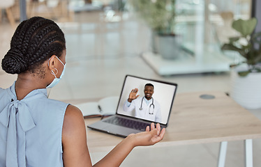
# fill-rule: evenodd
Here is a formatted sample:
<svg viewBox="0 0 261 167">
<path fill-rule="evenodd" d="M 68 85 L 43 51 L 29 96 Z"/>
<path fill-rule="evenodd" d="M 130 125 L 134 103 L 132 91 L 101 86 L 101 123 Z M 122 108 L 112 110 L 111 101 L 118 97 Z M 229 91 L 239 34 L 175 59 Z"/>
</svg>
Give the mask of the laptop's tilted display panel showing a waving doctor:
<svg viewBox="0 0 261 167">
<path fill-rule="evenodd" d="M 177 84 L 126 75 L 117 113 L 167 125 L 176 90 Z"/>
</svg>

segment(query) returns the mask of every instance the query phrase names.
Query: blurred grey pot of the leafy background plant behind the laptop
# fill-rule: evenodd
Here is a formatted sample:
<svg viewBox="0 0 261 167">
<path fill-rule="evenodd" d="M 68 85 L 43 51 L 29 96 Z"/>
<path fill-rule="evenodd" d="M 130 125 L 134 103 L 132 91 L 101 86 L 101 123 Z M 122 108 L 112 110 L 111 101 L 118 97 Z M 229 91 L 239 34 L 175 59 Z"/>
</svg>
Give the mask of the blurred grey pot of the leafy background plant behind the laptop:
<svg viewBox="0 0 261 167">
<path fill-rule="evenodd" d="M 160 54 L 162 58 L 177 58 L 181 51 L 180 43 L 179 35 L 158 35 L 158 33 L 152 33 L 152 49 L 154 53 Z"/>
</svg>

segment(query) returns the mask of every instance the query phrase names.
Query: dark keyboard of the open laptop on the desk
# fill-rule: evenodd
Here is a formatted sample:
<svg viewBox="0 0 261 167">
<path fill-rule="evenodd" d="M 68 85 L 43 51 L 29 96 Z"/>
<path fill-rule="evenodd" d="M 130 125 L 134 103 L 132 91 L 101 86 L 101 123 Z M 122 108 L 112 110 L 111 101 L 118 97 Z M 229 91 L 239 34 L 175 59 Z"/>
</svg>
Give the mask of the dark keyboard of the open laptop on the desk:
<svg viewBox="0 0 261 167">
<path fill-rule="evenodd" d="M 129 127 L 132 129 L 137 129 L 140 131 L 145 131 L 147 126 L 150 126 L 150 124 L 145 122 L 139 122 L 135 120 L 129 120 L 126 118 L 119 118 L 119 117 L 112 117 L 107 120 L 103 120 L 104 122 L 111 123 L 114 125 L 121 125 L 123 127 Z"/>
</svg>

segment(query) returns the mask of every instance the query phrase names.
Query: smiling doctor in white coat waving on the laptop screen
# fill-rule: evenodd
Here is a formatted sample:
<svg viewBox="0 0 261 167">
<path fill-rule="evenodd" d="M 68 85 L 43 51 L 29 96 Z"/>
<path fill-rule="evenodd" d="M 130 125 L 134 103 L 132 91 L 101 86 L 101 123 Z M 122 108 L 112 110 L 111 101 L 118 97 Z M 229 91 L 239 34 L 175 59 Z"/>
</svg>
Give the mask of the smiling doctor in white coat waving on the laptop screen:
<svg viewBox="0 0 261 167">
<path fill-rule="evenodd" d="M 137 95 L 138 89 L 131 90 L 128 100 L 124 103 L 124 111 L 130 112 L 135 109 L 135 117 L 161 122 L 161 106 L 154 100 L 154 85 L 146 84 L 144 86 L 144 97 Z"/>
</svg>

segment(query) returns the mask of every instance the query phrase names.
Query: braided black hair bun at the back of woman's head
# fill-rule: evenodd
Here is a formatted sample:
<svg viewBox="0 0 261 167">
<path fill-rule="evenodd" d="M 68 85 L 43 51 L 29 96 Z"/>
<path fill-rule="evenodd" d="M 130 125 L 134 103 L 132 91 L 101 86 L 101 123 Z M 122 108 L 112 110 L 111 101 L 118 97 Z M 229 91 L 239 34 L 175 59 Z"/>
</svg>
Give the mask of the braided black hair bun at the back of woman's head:
<svg viewBox="0 0 261 167">
<path fill-rule="evenodd" d="M 24 55 L 20 50 L 12 48 L 2 60 L 2 68 L 9 74 L 20 74 L 27 70 L 27 63 L 24 61 Z"/>
</svg>

